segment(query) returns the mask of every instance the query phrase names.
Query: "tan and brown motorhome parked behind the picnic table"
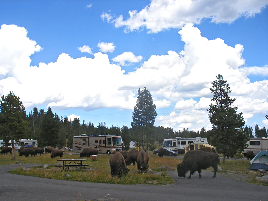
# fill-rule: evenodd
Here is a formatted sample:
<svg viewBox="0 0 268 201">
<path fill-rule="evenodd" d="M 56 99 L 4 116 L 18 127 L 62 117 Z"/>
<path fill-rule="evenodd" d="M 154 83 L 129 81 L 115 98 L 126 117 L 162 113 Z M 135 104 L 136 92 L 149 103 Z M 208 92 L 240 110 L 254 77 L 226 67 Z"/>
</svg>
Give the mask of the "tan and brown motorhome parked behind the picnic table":
<svg viewBox="0 0 268 201">
<path fill-rule="evenodd" d="M 73 152 L 81 153 L 86 147 L 97 149 L 99 153 L 114 154 L 122 151 L 122 138 L 117 135 L 79 135 L 73 137 Z"/>
</svg>

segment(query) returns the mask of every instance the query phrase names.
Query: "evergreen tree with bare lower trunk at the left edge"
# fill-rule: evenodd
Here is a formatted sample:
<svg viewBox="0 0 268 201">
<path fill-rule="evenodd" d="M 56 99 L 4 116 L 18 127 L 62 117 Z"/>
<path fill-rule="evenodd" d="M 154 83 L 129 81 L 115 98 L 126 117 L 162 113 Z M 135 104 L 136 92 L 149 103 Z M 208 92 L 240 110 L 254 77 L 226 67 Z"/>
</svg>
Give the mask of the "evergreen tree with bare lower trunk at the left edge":
<svg viewBox="0 0 268 201">
<path fill-rule="evenodd" d="M 0 135 L 6 144 L 9 140 L 12 140 L 12 156 L 13 160 L 15 160 L 13 140 L 18 142 L 25 134 L 27 126 L 25 108 L 19 96 L 10 91 L 6 96 L 1 96 L 0 110 Z"/>
</svg>

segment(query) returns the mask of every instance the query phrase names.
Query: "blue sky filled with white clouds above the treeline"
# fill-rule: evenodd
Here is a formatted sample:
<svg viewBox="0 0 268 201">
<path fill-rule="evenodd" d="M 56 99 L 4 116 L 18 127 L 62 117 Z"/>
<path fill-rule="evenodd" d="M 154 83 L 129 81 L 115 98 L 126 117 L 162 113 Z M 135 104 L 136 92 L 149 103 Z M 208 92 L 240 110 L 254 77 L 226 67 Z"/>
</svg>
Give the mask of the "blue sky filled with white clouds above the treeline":
<svg viewBox="0 0 268 201">
<path fill-rule="evenodd" d="M 131 127 L 147 87 L 156 126 L 211 129 L 229 83 L 248 127 L 268 126 L 267 1 L 0 1 L 0 94 L 27 113 Z"/>
</svg>

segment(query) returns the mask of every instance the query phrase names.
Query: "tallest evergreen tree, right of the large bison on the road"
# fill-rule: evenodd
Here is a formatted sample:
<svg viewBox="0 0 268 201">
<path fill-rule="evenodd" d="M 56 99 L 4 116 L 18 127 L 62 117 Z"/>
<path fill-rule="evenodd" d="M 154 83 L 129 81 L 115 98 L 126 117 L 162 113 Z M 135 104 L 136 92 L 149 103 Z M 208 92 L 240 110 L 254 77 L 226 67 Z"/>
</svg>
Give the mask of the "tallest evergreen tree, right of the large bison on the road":
<svg viewBox="0 0 268 201">
<path fill-rule="evenodd" d="M 231 92 L 229 84 L 219 74 L 210 88 L 213 93 L 213 103 L 209 105 L 208 116 L 212 124 L 211 143 L 223 153 L 223 162 L 226 154 L 233 156 L 246 147 L 248 136 L 244 135 L 245 124 L 242 113 L 237 114 L 237 106 L 233 106 L 235 99 L 228 94 Z"/>
</svg>

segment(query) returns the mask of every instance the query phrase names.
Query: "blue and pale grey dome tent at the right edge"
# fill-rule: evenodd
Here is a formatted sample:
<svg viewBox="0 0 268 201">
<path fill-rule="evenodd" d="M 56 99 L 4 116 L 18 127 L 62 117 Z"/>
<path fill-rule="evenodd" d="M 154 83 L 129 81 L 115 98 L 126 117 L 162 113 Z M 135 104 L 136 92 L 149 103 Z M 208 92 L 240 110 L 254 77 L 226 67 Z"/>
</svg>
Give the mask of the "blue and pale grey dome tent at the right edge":
<svg viewBox="0 0 268 201">
<path fill-rule="evenodd" d="M 264 164 L 268 163 L 268 151 L 262 150 L 261 152 L 258 152 L 255 157 L 250 161 L 250 163 L 250 170 L 268 170 L 268 166 Z"/>
</svg>

